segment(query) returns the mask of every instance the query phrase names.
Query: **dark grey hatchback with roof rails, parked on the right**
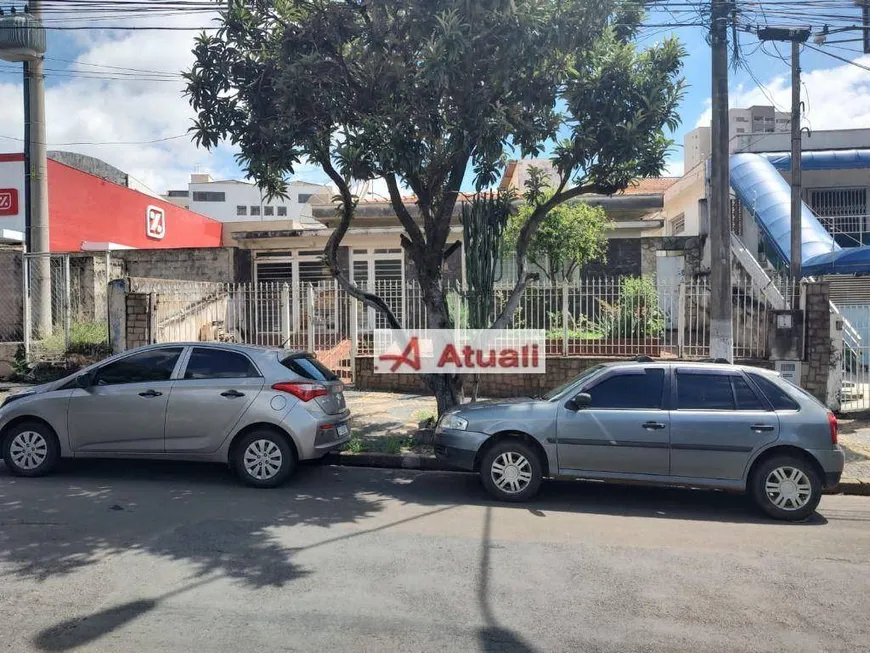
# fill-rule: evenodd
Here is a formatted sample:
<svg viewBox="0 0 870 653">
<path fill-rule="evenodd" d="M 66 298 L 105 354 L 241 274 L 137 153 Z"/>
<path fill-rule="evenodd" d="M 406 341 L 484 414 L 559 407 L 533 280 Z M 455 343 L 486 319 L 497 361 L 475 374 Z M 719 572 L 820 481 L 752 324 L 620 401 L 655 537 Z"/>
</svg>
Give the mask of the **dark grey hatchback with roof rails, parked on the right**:
<svg viewBox="0 0 870 653">
<path fill-rule="evenodd" d="M 495 497 L 533 497 L 544 477 L 748 492 L 800 520 L 839 483 L 837 419 L 774 372 L 724 364 L 593 367 L 538 399 L 444 414 L 436 455 L 478 471 Z"/>
</svg>

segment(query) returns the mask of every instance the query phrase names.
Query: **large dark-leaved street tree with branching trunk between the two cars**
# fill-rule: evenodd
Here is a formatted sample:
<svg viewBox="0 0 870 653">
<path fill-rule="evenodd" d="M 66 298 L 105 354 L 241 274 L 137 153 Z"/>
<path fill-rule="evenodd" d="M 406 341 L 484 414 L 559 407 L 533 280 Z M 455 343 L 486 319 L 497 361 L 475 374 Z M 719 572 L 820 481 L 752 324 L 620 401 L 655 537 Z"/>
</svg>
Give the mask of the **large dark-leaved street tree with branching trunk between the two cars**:
<svg viewBox="0 0 870 653">
<path fill-rule="evenodd" d="M 501 327 L 533 277 L 528 244 L 547 212 L 664 165 L 683 51 L 672 39 L 637 48 L 642 4 L 231 0 L 219 29 L 197 38 L 185 73 L 195 140 L 207 148 L 229 141 L 268 195 L 282 195 L 301 162 L 322 168 L 338 188 L 340 217 L 325 260 L 348 293 L 399 327 L 383 298 L 351 283 L 338 259 L 357 203 L 352 181 L 383 178 L 433 328 L 451 326 L 442 269 L 458 247 L 450 222 L 466 174 L 478 190 L 489 187 L 507 147 L 537 156 L 556 142 L 559 183 L 533 198 Z M 403 184 L 416 207 L 403 203 Z M 456 402 L 454 379 L 426 381 L 439 411 Z"/>
</svg>

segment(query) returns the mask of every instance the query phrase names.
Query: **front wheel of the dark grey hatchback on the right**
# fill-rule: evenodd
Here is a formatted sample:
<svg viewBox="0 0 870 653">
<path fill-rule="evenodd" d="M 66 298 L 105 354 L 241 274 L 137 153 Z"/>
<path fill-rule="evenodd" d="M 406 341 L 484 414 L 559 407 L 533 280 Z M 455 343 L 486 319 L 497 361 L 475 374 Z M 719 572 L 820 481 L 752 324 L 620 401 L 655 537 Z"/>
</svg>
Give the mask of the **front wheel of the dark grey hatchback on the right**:
<svg viewBox="0 0 870 653">
<path fill-rule="evenodd" d="M 522 440 L 502 440 L 484 453 L 480 479 L 496 499 L 528 501 L 541 487 L 541 461 Z"/>
</svg>

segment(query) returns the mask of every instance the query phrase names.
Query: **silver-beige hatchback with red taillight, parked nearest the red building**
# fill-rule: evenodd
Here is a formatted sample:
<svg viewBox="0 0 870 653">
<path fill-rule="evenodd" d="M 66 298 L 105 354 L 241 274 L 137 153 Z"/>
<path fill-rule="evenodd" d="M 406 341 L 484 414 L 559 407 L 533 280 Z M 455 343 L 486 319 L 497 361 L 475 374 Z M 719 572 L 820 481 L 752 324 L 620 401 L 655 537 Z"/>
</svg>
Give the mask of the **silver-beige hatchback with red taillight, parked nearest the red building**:
<svg viewBox="0 0 870 653">
<path fill-rule="evenodd" d="M 224 343 L 151 345 L 6 398 L 0 455 L 20 476 L 69 458 L 229 463 L 276 487 L 299 460 L 350 439 L 343 386 L 306 353 Z"/>
</svg>

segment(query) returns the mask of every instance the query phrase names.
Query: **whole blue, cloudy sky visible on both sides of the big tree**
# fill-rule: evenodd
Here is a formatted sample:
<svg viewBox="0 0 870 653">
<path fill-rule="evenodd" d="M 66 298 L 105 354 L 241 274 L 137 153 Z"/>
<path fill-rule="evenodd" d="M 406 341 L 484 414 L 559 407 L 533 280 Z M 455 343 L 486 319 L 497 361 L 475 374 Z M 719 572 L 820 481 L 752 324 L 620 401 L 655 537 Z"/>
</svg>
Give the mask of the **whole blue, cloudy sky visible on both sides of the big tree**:
<svg viewBox="0 0 870 653">
<path fill-rule="evenodd" d="M 857 20 L 857 10 L 855 13 Z M 140 24 L 143 21 L 155 24 L 153 18 L 146 21 L 135 17 L 106 22 L 127 25 L 137 20 Z M 673 17 L 661 12 L 647 20 L 655 24 L 673 21 Z M 172 16 L 160 22 L 201 26 L 207 20 L 199 14 Z M 709 120 L 710 51 L 701 27 L 647 30 L 643 41 L 651 43 L 669 33 L 678 36 L 688 52 L 685 62 L 688 87 L 680 107 L 682 124 L 672 135 L 678 146 L 671 152 L 666 170 L 679 174 L 683 159 L 679 145 L 684 132 Z M 189 138 L 182 137 L 190 125 L 192 111 L 181 95 L 181 80 L 173 81 L 168 75 L 189 66 L 193 36 L 193 32 L 185 31 L 49 32 L 46 60 L 49 145 L 98 156 L 159 192 L 184 187 L 193 171 L 211 172 L 218 178 L 241 176 L 230 148 L 209 153 L 197 150 Z M 745 61 L 762 85 L 745 70 L 732 69 L 732 106 L 775 103 L 788 110 L 788 63 L 772 47 L 758 47 L 754 35 L 742 34 L 740 41 Z M 870 65 L 870 57 L 861 58 L 857 45 L 860 44 L 830 45 L 826 50 Z M 788 55 L 788 46 L 780 46 L 780 50 Z M 804 50 L 802 64 L 805 80 L 802 97 L 808 109 L 806 126 L 813 130 L 870 128 L 870 71 L 810 49 Z M 144 74 L 147 79 L 143 80 L 131 69 L 151 72 Z M 20 141 L 14 140 L 21 138 L 23 132 L 19 71 L 19 64 L 0 63 L 0 97 L 4 99 L 0 103 L 0 151 L 21 149 Z M 170 140 L 144 143 L 157 139 Z M 107 142 L 126 144 L 107 145 Z M 77 144 L 62 145 L 65 143 Z M 312 167 L 301 168 L 297 177 L 326 181 Z"/>
</svg>

